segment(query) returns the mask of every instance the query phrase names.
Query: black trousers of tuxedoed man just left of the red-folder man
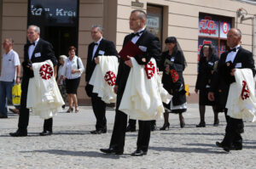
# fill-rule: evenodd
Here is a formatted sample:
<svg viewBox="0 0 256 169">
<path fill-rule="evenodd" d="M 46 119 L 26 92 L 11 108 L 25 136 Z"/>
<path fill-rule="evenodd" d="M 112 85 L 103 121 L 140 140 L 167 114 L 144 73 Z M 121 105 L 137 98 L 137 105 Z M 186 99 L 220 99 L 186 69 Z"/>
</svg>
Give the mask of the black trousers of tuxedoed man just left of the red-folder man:
<svg viewBox="0 0 256 169">
<path fill-rule="evenodd" d="M 98 94 L 92 93 L 91 104 L 94 115 L 96 116 L 96 130 L 107 131 L 106 103 L 98 97 Z"/>
</svg>

